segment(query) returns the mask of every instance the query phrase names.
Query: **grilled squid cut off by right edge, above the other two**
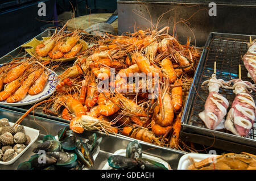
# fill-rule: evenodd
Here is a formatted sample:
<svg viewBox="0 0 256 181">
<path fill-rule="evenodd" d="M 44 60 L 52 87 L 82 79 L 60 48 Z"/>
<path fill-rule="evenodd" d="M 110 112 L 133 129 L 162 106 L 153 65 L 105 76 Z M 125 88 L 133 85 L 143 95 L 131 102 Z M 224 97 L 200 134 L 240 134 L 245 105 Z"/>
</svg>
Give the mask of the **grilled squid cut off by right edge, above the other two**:
<svg viewBox="0 0 256 181">
<path fill-rule="evenodd" d="M 256 83 L 256 39 L 248 44 L 248 47 L 247 53 L 243 56 L 243 64 L 248 70 L 248 77 Z"/>
</svg>

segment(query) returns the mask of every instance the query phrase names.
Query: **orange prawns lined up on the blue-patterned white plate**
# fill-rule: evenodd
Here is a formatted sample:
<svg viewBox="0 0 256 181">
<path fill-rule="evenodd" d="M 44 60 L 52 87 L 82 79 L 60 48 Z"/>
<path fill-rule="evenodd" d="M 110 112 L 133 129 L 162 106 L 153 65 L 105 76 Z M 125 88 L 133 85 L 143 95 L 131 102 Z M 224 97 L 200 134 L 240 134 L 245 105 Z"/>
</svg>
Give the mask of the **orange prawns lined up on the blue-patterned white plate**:
<svg viewBox="0 0 256 181">
<path fill-rule="evenodd" d="M 34 57 L 18 57 L 0 68 L 0 101 L 16 103 L 43 91 L 49 70 Z"/>
</svg>

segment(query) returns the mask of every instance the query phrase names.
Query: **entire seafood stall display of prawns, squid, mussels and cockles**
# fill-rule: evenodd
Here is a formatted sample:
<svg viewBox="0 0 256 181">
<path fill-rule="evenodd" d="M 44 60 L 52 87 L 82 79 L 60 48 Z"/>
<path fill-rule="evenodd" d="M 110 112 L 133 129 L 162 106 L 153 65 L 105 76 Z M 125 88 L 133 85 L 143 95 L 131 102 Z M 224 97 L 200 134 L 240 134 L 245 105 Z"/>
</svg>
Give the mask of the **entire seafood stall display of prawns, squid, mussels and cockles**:
<svg viewBox="0 0 256 181">
<path fill-rule="evenodd" d="M 198 47 L 199 11 L 119 35 L 31 32 L 0 58 L 0 170 L 256 170 L 256 36 Z"/>
</svg>

